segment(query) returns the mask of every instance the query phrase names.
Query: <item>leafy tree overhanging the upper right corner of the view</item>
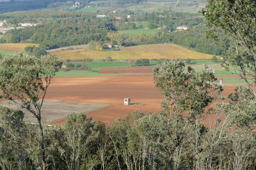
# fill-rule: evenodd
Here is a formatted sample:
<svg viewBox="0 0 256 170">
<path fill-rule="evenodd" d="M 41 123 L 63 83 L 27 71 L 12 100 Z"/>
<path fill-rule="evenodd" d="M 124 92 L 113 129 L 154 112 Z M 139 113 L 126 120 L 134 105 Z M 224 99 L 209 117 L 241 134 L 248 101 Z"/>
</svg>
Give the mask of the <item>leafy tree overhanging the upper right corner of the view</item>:
<svg viewBox="0 0 256 170">
<path fill-rule="evenodd" d="M 209 0 L 202 13 L 207 36 L 223 50 L 224 65 L 232 66 L 256 96 L 256 1 Z"/>
</svg>

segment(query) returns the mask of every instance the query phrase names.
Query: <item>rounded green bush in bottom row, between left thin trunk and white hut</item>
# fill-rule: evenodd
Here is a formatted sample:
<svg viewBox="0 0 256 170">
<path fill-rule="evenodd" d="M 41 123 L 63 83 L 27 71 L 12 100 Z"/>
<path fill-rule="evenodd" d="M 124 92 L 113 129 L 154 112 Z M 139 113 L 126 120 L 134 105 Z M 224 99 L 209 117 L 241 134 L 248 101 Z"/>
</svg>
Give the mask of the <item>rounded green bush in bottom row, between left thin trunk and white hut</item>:
<svg viewBox="0 0 256 170">
<path fill-rule="evenodd" d="M 68 116 L 63 136 L 59 146 L 61 159 L 65 160 L 70 169 L 79 169 L 84 159 L 91 156 L 90 146 L 97 134 L 94 129 L 97 124 L 92 118 L 86 118 L 84 113 Z"/>
</svg>

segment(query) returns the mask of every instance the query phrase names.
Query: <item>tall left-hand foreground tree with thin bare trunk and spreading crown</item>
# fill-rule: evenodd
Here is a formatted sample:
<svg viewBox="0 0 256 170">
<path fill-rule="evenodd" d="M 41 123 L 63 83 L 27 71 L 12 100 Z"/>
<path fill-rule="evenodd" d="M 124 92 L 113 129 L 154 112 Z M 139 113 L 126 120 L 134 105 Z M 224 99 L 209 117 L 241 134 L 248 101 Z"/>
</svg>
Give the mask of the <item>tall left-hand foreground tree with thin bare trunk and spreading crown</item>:
<svg viewBox="0 0 256 170">
<path fill-rule="evenodd" d="M 46 166 L 42 105 L 47 89 L 61 62 L 50 55 L 40 59 L 31 56 L 6 55 L 1 62 L 0 94 L 33 114 L 38 122 L 42 169 Z"/>
</svg>

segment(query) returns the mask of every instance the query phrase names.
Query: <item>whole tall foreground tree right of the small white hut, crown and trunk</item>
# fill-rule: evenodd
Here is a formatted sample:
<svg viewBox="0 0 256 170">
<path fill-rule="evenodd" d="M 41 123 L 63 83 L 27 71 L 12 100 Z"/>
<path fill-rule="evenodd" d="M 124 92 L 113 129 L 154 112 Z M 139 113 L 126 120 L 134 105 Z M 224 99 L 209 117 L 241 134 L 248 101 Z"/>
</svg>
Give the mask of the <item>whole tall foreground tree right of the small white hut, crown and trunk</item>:
<svg viewBox="0 0 256 170">
<path fill-rule="evenodd" d="M 214 92 L 221 92 L 222 83 L 214 76 L 214 70 L 204 66 L 202 72 L 196 72 L 188 67 L 182 60 L 165 61 L 154 67 L 154 83 L 161 89 L 164 101 L 162 103 L 164 114 L 169 118 L 172 132 L 166 136 L 165 146 L 168 146 L 169 169 L 179 167 L 179 162 L 174 162 L 175 152 L 189 136 L 187 131 L 191 125 L 199 124 L 205 108 L 214 99 Z"/>
</svg>

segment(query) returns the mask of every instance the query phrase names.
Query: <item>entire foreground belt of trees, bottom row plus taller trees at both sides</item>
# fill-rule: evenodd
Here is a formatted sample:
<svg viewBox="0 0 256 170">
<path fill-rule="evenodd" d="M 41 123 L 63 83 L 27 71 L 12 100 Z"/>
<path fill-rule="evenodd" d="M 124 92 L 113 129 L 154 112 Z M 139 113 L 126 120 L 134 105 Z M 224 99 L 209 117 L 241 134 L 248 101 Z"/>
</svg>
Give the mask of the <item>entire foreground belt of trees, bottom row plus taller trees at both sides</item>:
<svg viewBox="0 0 256 170">
<path fill-rule="evenodd" d="M 159 113 L 135 111 L 111 126 L 98 124 L 81 113 L 68 116 L 63 126 L 45 126 L 41 108 L 61 62 L 49 55 L 5 56 L 0 70 L 1 98 L 28 110 L 38 124 L 26 124 L 22 111 L 1 108 L 0 167 L 255 169 L 254 3 L 212 0 L 202 11 L 208 35 L 223 48 L 223 65 L 235 67 L 246 81 L 246 86 L 230 94 L 227 103 L 218 103 L 215 108 L 209 108 L 209 104 L 221 97 L 218 94 L 223 85 L 214 70 L 205 66 L 196 72 L 177 59 L 154 67 L 154 83 L 164 98 Z M 220 32 L 225 36 L 216 36 Z M 237 34 L 240 36 L 234 36 Z M 234 46 L 223 43 L 230 41 Z M 208 116 L 214 122 L 205 126 Z"/>
</svg>

